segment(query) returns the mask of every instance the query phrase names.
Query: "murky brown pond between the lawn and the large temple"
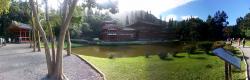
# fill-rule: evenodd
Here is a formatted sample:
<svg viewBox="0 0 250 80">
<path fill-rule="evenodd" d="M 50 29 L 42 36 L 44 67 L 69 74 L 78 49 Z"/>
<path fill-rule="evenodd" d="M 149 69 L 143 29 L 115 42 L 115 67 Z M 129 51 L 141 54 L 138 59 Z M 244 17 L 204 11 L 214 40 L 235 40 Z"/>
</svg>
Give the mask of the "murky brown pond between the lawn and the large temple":
<svg viewBox="0 0 250 80">
<path fill-rule="evenodd" d="M 144 56 L 145 53 L 158 54 L 160 52 L 178 52 L 182 50 L 182 46 L 183 45 L 180 43 L 117 46 L 87 45 L 83 47 L 72 48 L 72 51 L 81 55 L 104 58 L 107 58 L 109 55 L 114 55 L 114 57 L 136 57 Z"/>
</svg>

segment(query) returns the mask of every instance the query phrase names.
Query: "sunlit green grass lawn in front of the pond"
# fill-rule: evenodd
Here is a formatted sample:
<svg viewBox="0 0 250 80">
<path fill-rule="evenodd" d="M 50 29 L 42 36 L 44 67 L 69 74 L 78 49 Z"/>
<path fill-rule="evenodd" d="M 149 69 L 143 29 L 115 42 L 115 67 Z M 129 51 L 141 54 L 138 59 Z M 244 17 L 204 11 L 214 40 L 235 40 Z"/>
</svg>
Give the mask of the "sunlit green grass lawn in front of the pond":
<svg viewBox="0 0 250 80">
<path fill-rule="evenodd" d="M 156 55 L 115 59 L 80 55 L 101 70 L 107 80 L 224 80 L 224 62 L 218 57 L 193 54 L 188 58 L 185 53 L 178 56 L 160 60 Z M 233 80 L 245 80 L 242 69 L 233 69 Z"/>
</svg>

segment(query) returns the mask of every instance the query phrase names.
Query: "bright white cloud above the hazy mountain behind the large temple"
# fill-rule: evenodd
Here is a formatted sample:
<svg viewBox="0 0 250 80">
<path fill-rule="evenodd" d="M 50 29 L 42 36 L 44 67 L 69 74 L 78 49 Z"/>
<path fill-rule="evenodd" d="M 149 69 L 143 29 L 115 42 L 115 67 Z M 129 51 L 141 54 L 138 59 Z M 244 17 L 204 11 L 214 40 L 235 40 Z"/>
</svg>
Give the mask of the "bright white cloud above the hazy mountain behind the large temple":
<svg viewBox="0 0 250 80">
<path fill-rule="evenodd" d="M 162 12 L 192 2 L 193 0 L 118 0 L 120 12 L 145 10 L 151 11 L 155 16 Z"/>
</svg>

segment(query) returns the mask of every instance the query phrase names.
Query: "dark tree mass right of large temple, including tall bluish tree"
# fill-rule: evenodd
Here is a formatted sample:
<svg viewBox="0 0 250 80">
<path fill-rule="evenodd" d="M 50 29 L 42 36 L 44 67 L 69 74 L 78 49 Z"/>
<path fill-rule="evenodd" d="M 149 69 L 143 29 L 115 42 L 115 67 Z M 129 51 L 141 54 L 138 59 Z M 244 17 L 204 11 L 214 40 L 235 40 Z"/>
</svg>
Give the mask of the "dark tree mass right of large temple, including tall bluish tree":
<svg viewBox="0 0 250 80">
<path fill-rule="evenodd" d="M 175 28 L 182 40 L 222 40 L 233 35 L 231 28 L 225 28 L 228 24 L 227 14 L 224 11 L 217 11 L 214 16 L 208 16 L 206 22 L 202 19 L 191 17 L 179 22 L 170 20 L 169 27 Z M 224 29 L 225 28 L 225 29 Z"/>
</svg>

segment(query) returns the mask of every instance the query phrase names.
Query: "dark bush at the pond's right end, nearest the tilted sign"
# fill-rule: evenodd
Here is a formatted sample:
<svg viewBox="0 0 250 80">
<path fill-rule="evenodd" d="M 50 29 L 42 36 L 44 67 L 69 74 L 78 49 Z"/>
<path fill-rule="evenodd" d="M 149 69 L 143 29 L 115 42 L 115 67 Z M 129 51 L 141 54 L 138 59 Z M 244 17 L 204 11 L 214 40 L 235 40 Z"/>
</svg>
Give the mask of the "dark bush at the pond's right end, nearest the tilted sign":
<svg viewBox="0 0 250 80">
<path fill-rule="evenodd" d="M 198 43 L 198 47 L 200 49 L 203 49 L 206 54 L 209 54 L 209 51 L 212 49 L 212 46 L 213 46 L 213 43 L 212 42 L 201 42 L 201 43 Z"/>
</svg>

